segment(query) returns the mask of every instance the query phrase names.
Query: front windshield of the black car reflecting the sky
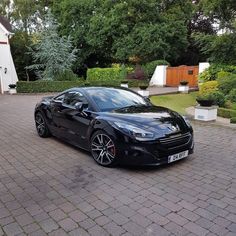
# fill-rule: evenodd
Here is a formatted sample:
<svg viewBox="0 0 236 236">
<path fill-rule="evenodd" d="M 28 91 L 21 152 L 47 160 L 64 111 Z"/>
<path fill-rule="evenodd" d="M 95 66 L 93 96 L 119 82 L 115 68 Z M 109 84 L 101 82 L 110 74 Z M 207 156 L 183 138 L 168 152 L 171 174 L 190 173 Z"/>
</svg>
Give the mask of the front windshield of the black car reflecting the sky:
<svg viewBox="0 0 236 236">
<path fill-rule="evenodd" d="M 148 106 L 147 100 L 141 96 L 123 89 L 88 88 L 88 95 L 93 99 L 101 111 L 111 111 L 130 106 Z"/>
</svg>

